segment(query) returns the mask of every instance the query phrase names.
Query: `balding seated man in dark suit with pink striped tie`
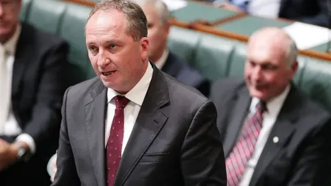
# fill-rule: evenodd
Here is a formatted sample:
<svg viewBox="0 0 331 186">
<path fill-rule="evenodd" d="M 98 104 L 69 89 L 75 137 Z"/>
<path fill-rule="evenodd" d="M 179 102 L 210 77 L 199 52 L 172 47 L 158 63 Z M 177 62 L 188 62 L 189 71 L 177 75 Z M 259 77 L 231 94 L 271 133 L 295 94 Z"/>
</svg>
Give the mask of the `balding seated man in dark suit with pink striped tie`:
<svg viewBox="0 0 331 186">
<path fill-rule="evenodd" d="M 248 43 L 245 81 L 212 87 L 228 185 L 330 185 L 331 116 L 292 83 L 294 41 L 278 28 Z"/>
</svg>

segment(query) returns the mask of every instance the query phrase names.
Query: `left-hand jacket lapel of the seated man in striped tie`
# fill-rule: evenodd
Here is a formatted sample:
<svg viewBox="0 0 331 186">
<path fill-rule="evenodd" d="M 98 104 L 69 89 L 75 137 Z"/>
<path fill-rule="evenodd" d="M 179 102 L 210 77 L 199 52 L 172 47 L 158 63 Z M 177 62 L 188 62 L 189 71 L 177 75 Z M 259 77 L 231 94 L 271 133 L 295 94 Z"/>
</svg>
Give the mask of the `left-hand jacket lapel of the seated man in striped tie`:
<svg viewBox="0 0 331 186">
<path fill-rule="evenodd" d="M 246 87 L 239 90 L 237 95 L 234 97 L 234 110 L 231 112 L 230 121 L 223 144 L 225 157 L 230 154 L 232 147 L 237 141 L 239 132 L 243 126 L 243 121 L 245 121 L 245 117 L 248 114 L 250 100 L 250 94 Z"/>
</svg>

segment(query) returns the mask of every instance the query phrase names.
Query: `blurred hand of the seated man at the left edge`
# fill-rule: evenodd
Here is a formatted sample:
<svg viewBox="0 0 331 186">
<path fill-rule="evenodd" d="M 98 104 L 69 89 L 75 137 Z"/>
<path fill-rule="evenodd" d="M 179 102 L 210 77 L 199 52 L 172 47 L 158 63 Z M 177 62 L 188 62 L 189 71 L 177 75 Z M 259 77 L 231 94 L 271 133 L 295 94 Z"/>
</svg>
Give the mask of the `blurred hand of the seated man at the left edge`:
<svg viewBox="0 0 331 186">
<path fill-rule="evenodd" d="M 0 139 L 0 171 L 17 161 L 19 146 Z"/>
</svg>

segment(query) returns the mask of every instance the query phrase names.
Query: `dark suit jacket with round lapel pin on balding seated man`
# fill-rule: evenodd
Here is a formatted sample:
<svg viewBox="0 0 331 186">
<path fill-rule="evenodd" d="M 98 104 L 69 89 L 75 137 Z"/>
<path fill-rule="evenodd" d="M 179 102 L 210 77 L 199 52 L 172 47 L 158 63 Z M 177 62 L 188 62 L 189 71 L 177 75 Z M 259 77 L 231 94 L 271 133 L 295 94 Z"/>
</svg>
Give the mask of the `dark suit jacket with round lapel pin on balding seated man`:
<svg viewBox="0 0 331 186">
<path fill-rule="evenodd" d="M 217 107 L 217 127 L 227 157 L 248 114 L 251 97 L 242 78 L 230 78 L 212 86 L 211 100 Z M 292 85 L 250 185 L 330 185 L 330 118 Z M 274 136 L 279 137 L 278 143 L 272 141 Z"/>
</svg>

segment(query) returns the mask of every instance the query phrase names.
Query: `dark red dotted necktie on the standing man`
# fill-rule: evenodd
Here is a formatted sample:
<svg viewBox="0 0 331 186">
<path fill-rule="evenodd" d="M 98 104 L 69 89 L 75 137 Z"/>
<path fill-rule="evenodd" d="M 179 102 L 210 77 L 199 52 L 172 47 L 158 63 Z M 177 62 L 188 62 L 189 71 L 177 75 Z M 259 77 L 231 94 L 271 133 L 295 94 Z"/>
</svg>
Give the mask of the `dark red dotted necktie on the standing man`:
<svg viewBox="0 0 331 186">
<path fill-rule="evenodd" d="M 106 146 L 106 175 L 108 186 L 114 185 L 117 169 L 119 169 L 119 163 L 121 162 L 124 132 L 124 108 L 129 103 L 129 100 L 124 96 L 115 96 L 114 101 L 116 109 Z"/>
</svg>

